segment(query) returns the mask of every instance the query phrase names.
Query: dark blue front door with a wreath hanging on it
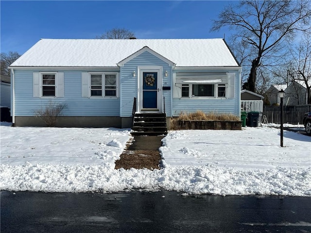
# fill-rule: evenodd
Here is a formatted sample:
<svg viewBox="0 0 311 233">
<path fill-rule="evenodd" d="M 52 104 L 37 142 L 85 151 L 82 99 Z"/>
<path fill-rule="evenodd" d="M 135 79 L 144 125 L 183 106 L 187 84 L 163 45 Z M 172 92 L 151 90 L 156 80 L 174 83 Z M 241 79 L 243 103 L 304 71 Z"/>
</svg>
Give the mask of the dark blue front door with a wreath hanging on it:
<svg viewBox="0 0 311 233">
<path fill-rule="evenodd" d="M 157 72 L 142 72 L 142 108 L 158 108 Z"/>
</svg>

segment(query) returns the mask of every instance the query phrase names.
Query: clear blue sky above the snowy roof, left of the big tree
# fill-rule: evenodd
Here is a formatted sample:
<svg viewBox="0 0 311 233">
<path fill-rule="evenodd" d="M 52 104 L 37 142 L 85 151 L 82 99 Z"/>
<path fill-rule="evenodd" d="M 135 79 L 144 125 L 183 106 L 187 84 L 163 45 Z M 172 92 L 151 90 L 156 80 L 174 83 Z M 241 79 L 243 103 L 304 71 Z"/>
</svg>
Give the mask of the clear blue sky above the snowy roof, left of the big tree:
<svg viewBox="0 0 311 233">
<path fill-rule="evenodd" d="M 230 1 L 0 1 L 1 52 L 23 54 L 40 38 L 95 38 L 125 28 L 137 38 L 223 38 L 211 19 Z"/>
</svg>

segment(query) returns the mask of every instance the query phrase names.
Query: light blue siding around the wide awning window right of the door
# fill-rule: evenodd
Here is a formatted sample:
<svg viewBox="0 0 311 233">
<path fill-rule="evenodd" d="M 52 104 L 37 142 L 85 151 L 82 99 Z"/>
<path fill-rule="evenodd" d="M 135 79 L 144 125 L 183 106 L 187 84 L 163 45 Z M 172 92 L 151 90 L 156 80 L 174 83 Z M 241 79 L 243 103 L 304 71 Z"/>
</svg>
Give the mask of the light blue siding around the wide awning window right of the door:
<svg viewBox="0 0 311 233">
<path fill-rule="evenodd" d="M 191 72 L 191 70 L 174 70 L 177 72 Z M 208 72 L 208 70 L 195 71 Z M 179 116 L 181 113 L 194 113 L 198 110 L 205 113 L 226 113 L 240 116 L 240 75 L 236 70 L 212 70 L 211 72 L 229 72 L 235 73 L 234 98 L 227 99 L 179 99 L 173 98 L 173 116 Z M 174 85 L 174 83 L 172 84 Z"/>
</svg>

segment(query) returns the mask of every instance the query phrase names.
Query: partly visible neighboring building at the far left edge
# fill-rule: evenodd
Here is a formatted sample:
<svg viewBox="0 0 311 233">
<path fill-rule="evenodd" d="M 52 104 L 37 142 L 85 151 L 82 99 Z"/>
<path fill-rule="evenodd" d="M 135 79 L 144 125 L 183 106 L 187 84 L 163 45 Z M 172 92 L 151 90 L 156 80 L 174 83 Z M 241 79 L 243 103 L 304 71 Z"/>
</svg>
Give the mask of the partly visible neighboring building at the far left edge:
<svg viewBox="0 0 311 233">
<path fill-rule="evenodd" d="M 0 76 L 0 120 L 11 121 L 11 78 L 1 74 Z"/>
</svg>

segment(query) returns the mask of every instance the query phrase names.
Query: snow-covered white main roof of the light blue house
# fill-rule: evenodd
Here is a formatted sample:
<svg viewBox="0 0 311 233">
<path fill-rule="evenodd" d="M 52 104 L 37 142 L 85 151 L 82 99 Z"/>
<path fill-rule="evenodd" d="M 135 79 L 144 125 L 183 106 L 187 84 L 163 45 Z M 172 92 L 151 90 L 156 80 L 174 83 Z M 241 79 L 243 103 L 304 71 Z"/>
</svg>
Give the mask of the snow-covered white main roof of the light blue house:
<svg viewBox="0 0 311 233">
<path fill-rule="evenodd" d="M 41 39 L 11 67 L 117 67 L 145 46 L 176 67 L 239 67 L 223 39 Z"/>
</svg>

